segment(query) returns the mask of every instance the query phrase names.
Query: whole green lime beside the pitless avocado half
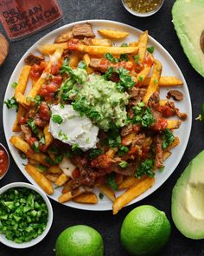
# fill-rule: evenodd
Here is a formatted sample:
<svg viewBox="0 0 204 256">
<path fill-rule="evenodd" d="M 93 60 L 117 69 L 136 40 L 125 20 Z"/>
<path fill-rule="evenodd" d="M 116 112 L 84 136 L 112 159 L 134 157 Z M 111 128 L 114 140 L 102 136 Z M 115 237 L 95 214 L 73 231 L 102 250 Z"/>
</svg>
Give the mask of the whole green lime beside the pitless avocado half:
<svg viewBox="0 0 204 256">
<path fill-rule="evenodd" d="M 131 255 L 156 254 L 169 240 L 170 223 L 166 214 L 155 207 L 137 207 L 122 224 L 120 240 Z"/>
</svg>

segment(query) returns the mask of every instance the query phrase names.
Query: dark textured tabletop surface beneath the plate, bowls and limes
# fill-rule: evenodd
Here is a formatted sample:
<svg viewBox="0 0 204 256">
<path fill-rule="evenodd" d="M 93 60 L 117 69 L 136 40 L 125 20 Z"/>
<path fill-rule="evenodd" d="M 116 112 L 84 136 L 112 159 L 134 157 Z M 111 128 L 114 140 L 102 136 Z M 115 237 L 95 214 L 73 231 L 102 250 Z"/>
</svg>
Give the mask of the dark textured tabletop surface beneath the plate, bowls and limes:
<svg viewBox="0 0 204 256">
<path fill-rule="evenodd" d="M 153 36 L 159 43 L 169 51 L 175 58 L 182 69 L 182 73 L 188 82 L 188 88 L 191 95 L 193 105 L 193 127 L 188 148 L 180 162 L 168 181 L 160 187 L 154 194 L 151 194 L 147 199 L 143 200 L 137 205 L 126 207 L 117 216 L 112 216 L 111 212 L 86 212 L 75 210 L 69 207 L 63 207 L 60 204 L 51 200 L 54 208 L 54 223 L 48 233 L 48 236 L 41 241 L 40 244 L 25 250 L 14 250 L 6 246 L 0 245 L 0 255 L 2 256 L 23 256 L 23 255 L 54 255 L 54 243 L 61 231 L 67 226 L 76 224 L 86 224 L 96 228 L 104 237 L 105 242 L 105 256 L 128 255 L 119 242 L 119 231 L 124 216 L 136 206 L 142 204 L 150 204 L 167 213 L 171 222 L 172 233 L 169 243 L 159 255 L 165 256 L 198 256 L 204 255 L 203 240 L 188 240 L 179 233 L 171 219 L 171 192 L 184 167 L 188 165 L 195 154 L 199 153 L 204 146 L 204 126 L 194 121 L 194 118 L 199 114 L 201 103 L 204 102 L 204 84 L 201 75 L 198 75 L 188 63 L 186 56 L 182 52 L 182 47 L 175 35 L 173 24 L 171 23 L 171 8 L 174 3 L 173 0 L 166 0 L 160 10 L 155 16 L 149 18 L 138 18 L 131 16 L 124 10 L 122 3 L 119 0 L 61 0 L 64 17 L 60 23 L 53 27 L 43 30 L 34 36 L 23 39 L 20 42 L 10 43 L 10 55 L 3 67 L 0 68 L 0 102 L 1 109 L 3 106 L 3 96 L 10 75 L 16 66 L 16 63 L 22 57 L 22 54 L 29 49 L 41 36 L 46 35 L 49 31 L 54 30 L 66 23 L 72 23 L 84 19 L 109 19 L 122 23 L 130 24 L 140 30 L 149 30 L 150 36 Z M 0 31 L 4 33 L 3 28 Z M 3 135 L 2 110 L 0 111 L 0 141 L 6 144 Z M 3 181 L 0 181 L 0 187 L 10 183 L 11 181 L 26 181 L 22 173 L 17 169 L 16 164 L 11 160 L 10 172 L 6 175 Z"/>
</svg>

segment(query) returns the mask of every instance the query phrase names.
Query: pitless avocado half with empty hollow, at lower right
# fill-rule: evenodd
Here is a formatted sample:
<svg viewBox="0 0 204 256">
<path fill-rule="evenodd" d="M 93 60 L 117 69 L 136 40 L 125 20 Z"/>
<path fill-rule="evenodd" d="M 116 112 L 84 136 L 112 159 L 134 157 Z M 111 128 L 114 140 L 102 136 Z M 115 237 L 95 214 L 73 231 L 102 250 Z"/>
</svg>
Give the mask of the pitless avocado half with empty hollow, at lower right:
<svg viewBox="0 0 204 256">
<path fill-rule="evenodd" d="M 194 240 L 204 238 L 204 151 L 194 157 L 176 182 L 171 213 L 183 235 Z"/>
</svg>

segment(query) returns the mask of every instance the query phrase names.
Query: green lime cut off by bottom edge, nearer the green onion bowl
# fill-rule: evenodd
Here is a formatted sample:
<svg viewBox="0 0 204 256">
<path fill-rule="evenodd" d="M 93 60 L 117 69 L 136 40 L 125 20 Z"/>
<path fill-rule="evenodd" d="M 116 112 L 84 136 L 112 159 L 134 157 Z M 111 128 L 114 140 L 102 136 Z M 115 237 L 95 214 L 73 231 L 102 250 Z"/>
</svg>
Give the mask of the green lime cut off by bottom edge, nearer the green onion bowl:
<svg viewBox="0 0 204 256">
<path fill-rule="evenodd" d="M 104 243 L 92 227 L 70 226 L 59 235 L 55 253 L 56 256 L 103 256 Z"/>
</svg>

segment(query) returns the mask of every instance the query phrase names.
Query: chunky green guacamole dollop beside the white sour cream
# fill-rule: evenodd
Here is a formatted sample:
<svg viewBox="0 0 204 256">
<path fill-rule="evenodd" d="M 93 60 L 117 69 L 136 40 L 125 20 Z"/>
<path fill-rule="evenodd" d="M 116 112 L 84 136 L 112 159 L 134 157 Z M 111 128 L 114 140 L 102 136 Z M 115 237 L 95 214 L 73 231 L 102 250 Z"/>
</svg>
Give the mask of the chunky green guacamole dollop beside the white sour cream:
<svg viewBox="0 0 204 256">
<path fill-rule="evenodd" d="M 87 115 L 105 131 L 112 125 L 124 126 L 129 95 L 120 92 L 116 82 L 105 81 L 101 75 L 87 75 L 85 69 L 74 69 L 70 79 L 68 97 L 73 100 L 74 110 Z"/>
</svg>

